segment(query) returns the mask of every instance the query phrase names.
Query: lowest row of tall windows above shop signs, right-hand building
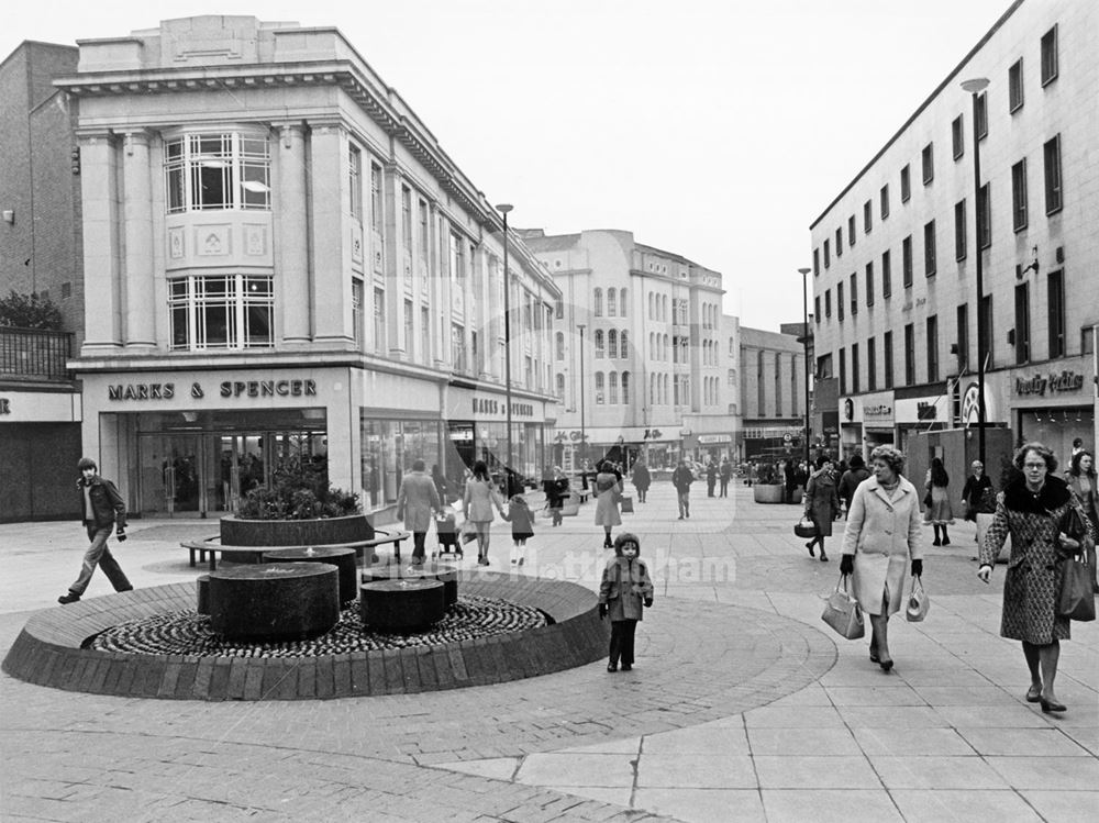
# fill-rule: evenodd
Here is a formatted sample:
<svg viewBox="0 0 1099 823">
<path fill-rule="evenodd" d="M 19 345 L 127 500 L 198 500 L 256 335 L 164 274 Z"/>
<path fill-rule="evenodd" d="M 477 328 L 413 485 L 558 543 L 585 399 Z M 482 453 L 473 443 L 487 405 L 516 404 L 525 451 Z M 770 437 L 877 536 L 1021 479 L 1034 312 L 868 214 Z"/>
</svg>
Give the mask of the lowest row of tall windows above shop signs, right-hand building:
<svg viewBox="0 0 1099 823">
<path fill-rule="evenodd" d="M 977 351 L 985 354 L 987 366 L 995 367 L 998 359 L 1001 363 L 1024 365 L 1043 359 L 1052 360 L 1065 357 L 1068 354 L 1065 319 L 1068 297 L 1065 292 L 1064 270 L 1058 269 L 1050 273 L 1045 278 L 1045 287 L 1041 290 L 1036 282 L 1017 283 L 1013 297 L 1013 313 L 1007 319 L 1007 323 L 1013 321 L 1013 324 L 1006 330 L 998 327 L 996 322 L 995 296 L 985 294 L 981 300 L 983 327 Z M 1039 341 L 1033 334 L 1033 312 L 1040 313 L 1045 320 L 1044 351 L 1039 349 L 1036 345 Z M 954 363 L 945 369 L 946 374 L 959 375 L 972 369 L 974 360 L 970 358 L 969 352 L 972 340 L 969 323 L 968 303 L 963 303 L 955 309 L 953 337 L 950 337 L 950 332 L 947 332 L 946 338 L 943 338 L 943 330 L 937 314 L 925 318 L 923 321 L 922 362 L 919 358 L 921 346 L 920 341 L 917 340 L 918 324 L 914 322 L 906 324 L 902 329 L 903 347 L 900 353 L 903 357 L 901 360 L 901 385 L 915 386 L 924 382 L 937 382 L 943 379 L 944 354 L 947 353 L 954 357 Z M 1090 332 L 1090 329 L 1081 330 L 1081 354 L 1090 345 L 1088 336 Z M 841 347 L 836 352 L 834 365 L 831 354 L 818 358 L 818 376 L 839 377 L 840 393 L 842 394 L 848 393 L 848 389 L 852 393 L 858 393 L 863 390 L 877 391 L 879 386 L 882 389 L 895 388 L 895 367 L 897 364 L 895 363 L 892 331 L 885 332 L 880 340 L 880 370 L 878 368 L 878 338 L 872 336 L 861 343 L 852 343 L 850 346 Z M 1002 357 L 1006 352 L 1003 347 L 1011 349 L 1009 357 Z M 1000 358 L 997 357 L 998 354 L 1001 355 Z M 922 374 L 918 371 L 918 366 L 921 363 Z"/>
</svg>

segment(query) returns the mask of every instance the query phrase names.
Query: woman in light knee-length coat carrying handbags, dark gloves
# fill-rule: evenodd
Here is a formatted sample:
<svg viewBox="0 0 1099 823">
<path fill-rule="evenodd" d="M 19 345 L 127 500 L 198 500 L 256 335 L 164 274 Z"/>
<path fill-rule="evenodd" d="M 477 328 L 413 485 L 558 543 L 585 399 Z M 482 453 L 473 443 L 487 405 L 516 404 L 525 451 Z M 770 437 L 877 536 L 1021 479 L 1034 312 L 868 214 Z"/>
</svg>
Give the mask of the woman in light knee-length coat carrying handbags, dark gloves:
<svg viewBox="0 0 1099 823">
<path fill-rule="evenodd" d="M 900 611 L 904 599 L 909 560 L 913 577 L 923 575 L 920 494 L 901 475 L 904 455 L 898 449 L 878 446 L 870 464 L 874 475 L 851 499 L 840 571 L 854 575 L 855 597 L 870 616 L 870 660 L 888 671 L 889 616 Z"/>
</svg>

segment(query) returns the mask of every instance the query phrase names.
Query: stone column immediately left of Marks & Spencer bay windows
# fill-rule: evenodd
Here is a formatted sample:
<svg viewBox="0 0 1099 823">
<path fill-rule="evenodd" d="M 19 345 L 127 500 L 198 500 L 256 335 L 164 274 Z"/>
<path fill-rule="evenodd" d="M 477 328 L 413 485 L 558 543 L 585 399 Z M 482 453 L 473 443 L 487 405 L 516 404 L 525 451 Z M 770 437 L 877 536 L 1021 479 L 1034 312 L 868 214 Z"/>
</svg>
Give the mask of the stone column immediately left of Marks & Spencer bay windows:
<svg viewBox="0 0 1099 823">
<path fill-rule="evenodd" d="M 122 211 L 125 251 L 126 348 L 156 347 L 156 300 L 153 296 L 153 201 L 149 185 L 148 132 L 127 132 L 122 149 Z"/>
</svg>

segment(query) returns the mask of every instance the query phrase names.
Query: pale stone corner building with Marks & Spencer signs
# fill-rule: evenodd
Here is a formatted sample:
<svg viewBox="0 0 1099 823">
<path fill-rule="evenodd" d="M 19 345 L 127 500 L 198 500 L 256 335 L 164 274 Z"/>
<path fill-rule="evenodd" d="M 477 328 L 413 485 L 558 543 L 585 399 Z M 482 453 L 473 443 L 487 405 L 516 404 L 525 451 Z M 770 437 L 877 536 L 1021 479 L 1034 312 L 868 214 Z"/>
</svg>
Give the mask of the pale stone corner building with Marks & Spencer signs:
<svg viewBox="0 0 1099 823">
<path fill-rule="evenodd" d="M 84 448 L 142 514 L 232 510 L 290 456 L 390 507 L 552 441 L 560 292 L 331 27 L 197 16 L 79 43 Z"/>
</svg>

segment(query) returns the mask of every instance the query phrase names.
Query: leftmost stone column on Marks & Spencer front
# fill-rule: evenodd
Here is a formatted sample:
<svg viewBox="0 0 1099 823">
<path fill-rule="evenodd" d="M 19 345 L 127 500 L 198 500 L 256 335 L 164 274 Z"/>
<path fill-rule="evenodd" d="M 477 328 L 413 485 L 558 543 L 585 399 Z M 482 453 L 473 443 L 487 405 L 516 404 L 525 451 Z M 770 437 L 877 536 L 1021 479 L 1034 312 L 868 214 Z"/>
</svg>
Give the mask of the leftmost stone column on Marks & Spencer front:
<svg viewBox="0 0 1099 823">
<path fill-rule="evenodd" d="M 81 133 L 79 140 L 85 294 L 85 338 L 80 352 L 95 355 L 122 345 L 116 158 L 108 132 Z"/>
</svg>

